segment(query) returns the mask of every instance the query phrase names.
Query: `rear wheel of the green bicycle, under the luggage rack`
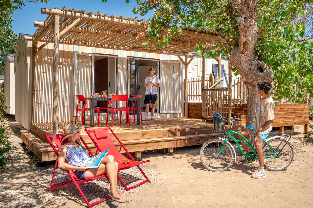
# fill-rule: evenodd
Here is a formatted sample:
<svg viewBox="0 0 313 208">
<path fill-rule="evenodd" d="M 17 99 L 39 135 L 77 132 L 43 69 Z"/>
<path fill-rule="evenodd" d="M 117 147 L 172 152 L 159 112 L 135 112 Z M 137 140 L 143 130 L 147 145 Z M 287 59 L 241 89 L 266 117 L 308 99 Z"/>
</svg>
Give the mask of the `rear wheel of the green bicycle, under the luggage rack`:
<svg viewBox="0 0 313 208">
<path fill-rule="evenodd" d="M 286 140 L 282 138 L 273 138 L 268 141 L 268 144 L 279 153 L 278 157 L 276 153 L 268 146 L 263 146 L 264 156 L 273 156 L 272 158 L 264 158 L 264 167 L 268 170 L 284 170 L 287 168 L 293 160 L 293 148 L 288 142 L 286 145 Z M 284 147 L 285 145 L 285 147 Z"/>
</svg>

